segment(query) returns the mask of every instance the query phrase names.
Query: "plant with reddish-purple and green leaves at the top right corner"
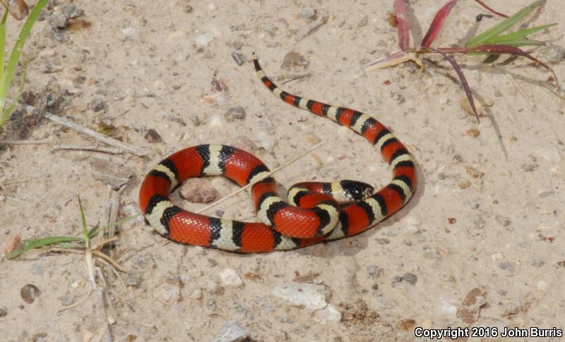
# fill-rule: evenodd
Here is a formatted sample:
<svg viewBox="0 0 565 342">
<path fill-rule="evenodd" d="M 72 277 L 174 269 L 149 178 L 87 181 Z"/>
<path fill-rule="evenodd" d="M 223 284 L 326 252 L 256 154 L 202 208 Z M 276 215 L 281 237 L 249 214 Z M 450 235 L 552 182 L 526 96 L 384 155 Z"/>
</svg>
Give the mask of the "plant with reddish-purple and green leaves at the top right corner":
<svg viewBox="0 0 565 342">
<path fill-rule="evenodd" d="M 439 35 L 439 32 L 441 31 L 441 28 L 443 27 L 444 22 L 449 15 L 449 12 L 451 11 L 451 8 L 453 8 L 453 6 L 455 6 L 457 2 L 457 0 L 449 0 L 436 13 L 434 20 L 432 20 L 432 24 L 429 25 L 426 35 L 422 39 L 422 42 L 420 42 L 420 46 L 416 48 L 410 48 L 410 25 L 408 23 L 408 12 L 406 11 L 405 0 L 394 0 L 393 7 L 396 16 L 398 47 L 400 47 L 400 51 L 393 53 L 390 56 L 368 63 L 366 66 L 364 66 L 364 71 L 372 71 L 379 68 L 396 66 L 397 64 L 404 63 L 406 61 L 413 61 L 417 63 L 420 68 L 423 68 L 424 63 L 422 63 L 422 61 L 420 61 L 420 59 L 418 58 L 419 54 L 441 54 L 441 56 L 443 56 L 446 61 L 451 63 L 451 66 L 453 66 L 453 69 L 456 71 L 458 78 L 461 81 L 461 85 L 463 86 L 463 90 L 465 90 L 465 94 L 467 96 L 472 112 L 477 118 L 477 121 L 479 121 L 479 115 L 477 114 L 477 109 L 475 108 L 475 102 L 472 97 L 471 89 L 467 80 L 465 79 L 463 70 L 461 69 L 457 61 L 453 58 L 453 56 L 451 56 L 451 54 L 511 54 L 514 56 L 526 57 L 531 61 L 534 61 L 535 63 L 539 63 L 541 66 L 553 73 L 554 80 L 557 83 L 557 90 L 559 92 L 561 90 L 561 87 L 559 85 L 559 81 L 557 80 L 557 75 L 555 75 L 553 69 L 550 68 L 546 63 L 543 63 L 542 61 L 536 59 L 530 53 L 524 51 L 523 49 L 520 49 L 520 47 L 524 46 L 544 45 L 544 42 L 528 39 L 526 38 L 526 36 L 541 30 L 545 30 L 557 24 L 541 25 L 534 28 L 525 28 L 502 34 L 503 32 L 509 30 L 513 25 L 516 25 L 516 23 L 518 23 L 520 20 L 525 18 L 525 16 L 528 16 L 528 14 L 535 8 L 542 6 L 542 4 L 545 3 L 545 0 L 535 1 L 533 4 L 525 6 L 512 16 L 506 16 L 503 13 L 494 11 L 494 9 L 487 6 L 487 4 L 484 4 L 483 1 L 475 1 L 484 8 L 487 8 L 487 10 L 491 11 L 492 13 L 495 13 L 496 15 L 504 17 L 506 19 L 501 21 L 501 23 L 494 25 L 492 28 L 489 28 L 479 35 L 469 39 L 468 42 L 465 43 L 464 47 L 431 47 L 432 43 Z"/>
</svg>

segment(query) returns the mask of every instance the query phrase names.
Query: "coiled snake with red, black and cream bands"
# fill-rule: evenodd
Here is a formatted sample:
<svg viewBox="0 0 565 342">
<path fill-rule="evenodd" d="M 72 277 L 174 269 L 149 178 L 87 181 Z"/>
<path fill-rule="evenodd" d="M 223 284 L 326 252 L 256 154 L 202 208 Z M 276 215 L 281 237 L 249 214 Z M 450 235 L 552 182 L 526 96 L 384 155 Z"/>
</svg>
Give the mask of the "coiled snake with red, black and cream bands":
<svg viewBox="0 0 565 342">
<path fill-rule="evenodd" d="M 158 233 L 179 243 L 234 252 L 291 250 L 365 231 L 410 200 L 417 185 L 414 161 L 390 130 L 359 111 L 281 90 L 265 75 L 255 55 L 254 66 L 261 82 L 287 104 L 326 116 L 369 140 L 393 169 L 393 180 L 376 193 L 356 181 L 299 183 L 288 191 L 287 203 L 278 197 L 267 166 L 248 152 L 227 145 L 189 147 L 157 164 L 141 184 L 141 210 Z M 253 183 L 251 197 L 261 223 L 196 214 L 169 200 L 177 185 L 202 176 L 225 176 L 240 186 Z"/>
</svg>

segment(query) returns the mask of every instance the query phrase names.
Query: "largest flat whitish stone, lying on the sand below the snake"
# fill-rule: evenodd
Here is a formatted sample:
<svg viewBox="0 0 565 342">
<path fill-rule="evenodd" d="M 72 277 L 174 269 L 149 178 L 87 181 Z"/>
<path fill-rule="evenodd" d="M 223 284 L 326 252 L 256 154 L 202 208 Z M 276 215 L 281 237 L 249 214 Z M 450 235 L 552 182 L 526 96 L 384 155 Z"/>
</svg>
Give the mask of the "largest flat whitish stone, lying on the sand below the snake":
<svg viewBox="0 0 565 342">
<path fill-rule="evenodd" d="M 323 286 L 313 283 L 283 283 L 273 288 L 271 294 L 290 305 L 304 306 L 307 310 L 315 311 L 328 305 L 325 290 Z"/>
</svg>

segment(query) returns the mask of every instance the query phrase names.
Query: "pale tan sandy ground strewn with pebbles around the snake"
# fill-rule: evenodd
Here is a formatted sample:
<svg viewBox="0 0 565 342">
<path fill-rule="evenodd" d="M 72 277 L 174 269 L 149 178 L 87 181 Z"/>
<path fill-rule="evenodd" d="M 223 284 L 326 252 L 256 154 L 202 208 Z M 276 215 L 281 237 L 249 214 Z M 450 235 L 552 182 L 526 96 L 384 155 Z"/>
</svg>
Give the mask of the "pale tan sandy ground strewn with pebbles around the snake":
<svg viewBox="0 0 565 342">
<path fill-rule="evenodd" d="M 283 188 L 314 179 L 387 183 L 386 165 L 361 137 L 273 97 L 256 79 L 252 51 L 290 92 L 364 111 L 394 130 L 417 160 L 420 186 L 369 231 L 290 252 L 237 255 L 169 243 L 141 219 L 129 221 L 109 251 L 128 274 L 97 262 L 105 310 L 81 254 L 34 250 L 1 259 L 0 341 L 98 341 L 105 316 L 115 341 L 208 341 L 226 326 L 246 341 L 422 341 L 417 327 L 447 326 L 498 329 L 488 341 L 560 340 L 500 336 L 505 327 L 565 329 L 564 106 L 545 69 L 525 59 L 459 56 L 492 114 L 477 125 L 460 107 L 455 73 L 437 56 L 427 56 L 423 72 L 405 64 L 362 73 L 364 63 L 397 50 L 387 20 L 392 1 L 52 2 L 25 47 L 25 101 L 105 128 L 148 155 L 57 149 L 97 142 L 16 112 L 0 138 L 42 143 L 0 146 L 0 242 L 80 236 L 77 195 L 88 223 L 104 224 L 118 197 L 108 175 L 131 175 L 118 214 L 134 214 L 145 173 L 203 143 L 249 138 L 274 168 L 322 141 L 276 174 Z M 409 1 L 412 41 L 443 2 Z M 528 4 L 488 2 L 505 13 Z M 328 22 L 297 42 L 312 21 L 309 8 Z M 80 12 L 90 28 L 54 29 L 53 18 Z M 435 45 L 458 43 L 480 13 L 474 1 L 459 1 Z M 494 20 L 484 18 L 481 29 Z M 559 1 L 549 0 L 530 25 L 564 22 Z M 13 42 L 13 20 L 8 25 Z M 562 47 L 563 33 L 560 24 L 537 37 Z M 212 40 L 198 46 L 199 36 Z M 304 63 L 281 68 L 292 51 Z M 559 48 L 535 55 L 552 59 L 565 81 Z M 227 115 L 235 106 L 243 118 Z M 146 138 L 150 129 L 162 141 Z M 220 178 L 211 185 L 219 197 L 237 189 Z M 245 193 L 207 213 L 254 216 Z M 222 280 L 230 272 L 236 279 Z M 26 295 L 28 284 L 39 295 Z M 311 291 L 321 306 L 281 298 L 292 288 Z"/>
</svg>

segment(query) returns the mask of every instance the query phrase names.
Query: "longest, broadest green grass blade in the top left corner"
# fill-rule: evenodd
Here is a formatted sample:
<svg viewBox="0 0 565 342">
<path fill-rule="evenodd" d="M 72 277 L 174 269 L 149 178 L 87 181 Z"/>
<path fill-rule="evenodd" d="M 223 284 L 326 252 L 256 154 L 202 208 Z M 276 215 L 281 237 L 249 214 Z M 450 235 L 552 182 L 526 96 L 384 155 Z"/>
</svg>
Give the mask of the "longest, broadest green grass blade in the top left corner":
<svg viewBox="0 0 565 342">
<path fill-rule="evenodd" d="M 43 7 L 47 4 L 49 0 L 39 0 L 37 4 L 33 7 L 28 19 L 25 20 L 23 24 L 22 30 L 20 31 L 20 36 L 14 44 L 12 52 L 10 54 L 10 58 L 8 59 L 8 64 L 6 64 L 6 69 L 4 72 L 4 77 L 0 80 L 0 109 L 4 108 L 4 99 L 6 99 L 6 94 L 8 94 L 8 88 L 10 87 L 10 83 L 12 80 L 12 76 L 14 71 L 16 71 L 16 66 L 18 66 L 18 61 L 20 61 L 20 56 L 22 54 L 23 44 L 25 44 L 25 40 L 28 39 L 30 35 L 31 29 L 37 17 L 40 16 L 40 13 Z"/>
</svg>

